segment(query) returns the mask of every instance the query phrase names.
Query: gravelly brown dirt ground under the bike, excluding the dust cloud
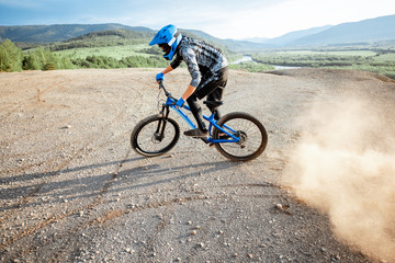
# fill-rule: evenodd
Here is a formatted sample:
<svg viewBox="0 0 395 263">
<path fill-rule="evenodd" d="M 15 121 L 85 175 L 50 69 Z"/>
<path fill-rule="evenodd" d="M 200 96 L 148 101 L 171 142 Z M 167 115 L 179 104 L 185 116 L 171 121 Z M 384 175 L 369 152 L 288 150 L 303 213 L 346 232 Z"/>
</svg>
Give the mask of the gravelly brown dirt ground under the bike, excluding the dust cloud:
<svg viewBox="0 0 395 263">
<path fill-rule="evenodd" d="M 393 152 L 394 82 L 357 71 L 230 71 L 222 112 L 251 113 L 269 132 L 264 153 L 237 163 L 187 137 L 158 158 L 131 150 L 134 125 L 158 112 L 157 71 L 0 75 L 1 262 L 395 261 L 345 236 L 325 201 L 294 186 L 305 179 L 301 145 L 345 98 L 385 121 L 366 147 Z M 174 96 L 188 81 L 185 69 L 166 78 Z M 393 191 L 382 202 L 394 215 Z M 395 226 L 384 227 L 393 245 Z"/>
</svg>

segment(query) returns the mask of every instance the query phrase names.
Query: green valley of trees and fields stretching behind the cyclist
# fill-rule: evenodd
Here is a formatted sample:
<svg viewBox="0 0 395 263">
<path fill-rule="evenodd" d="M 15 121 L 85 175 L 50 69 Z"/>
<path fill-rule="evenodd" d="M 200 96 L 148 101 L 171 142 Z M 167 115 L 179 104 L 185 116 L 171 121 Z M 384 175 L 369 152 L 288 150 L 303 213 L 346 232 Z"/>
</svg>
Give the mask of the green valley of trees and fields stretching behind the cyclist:
<svg viewBox="0 0 395 263">
<path fill-rule="evenodd" d="M 22 50 L 11 42 L 0 45 L 1 71 L 52 70 L 70 68 L 162 68 L 161 50 L 148 46 L 150 37 L 128 31 L 97 32 L 67 42 L 44 46 L 32 45 Z M 221 46 L 229 62 L 246 53 Z M 12 56 L 10 56 L 10 54 Z M 7 55 L 7 56 L 5 56 Z M 395 48 L 375 44 L 359 46 L 323 46 L 311 49 L 262 49 L 249 53 L 253 61 L 230 65 L 232 69 L 252 72 L 272 70 L 273 66 L 354 69 L 381 73 L 395 79 Z M 184 65 L 183 65 L 184 67 Z"/>
</svg>

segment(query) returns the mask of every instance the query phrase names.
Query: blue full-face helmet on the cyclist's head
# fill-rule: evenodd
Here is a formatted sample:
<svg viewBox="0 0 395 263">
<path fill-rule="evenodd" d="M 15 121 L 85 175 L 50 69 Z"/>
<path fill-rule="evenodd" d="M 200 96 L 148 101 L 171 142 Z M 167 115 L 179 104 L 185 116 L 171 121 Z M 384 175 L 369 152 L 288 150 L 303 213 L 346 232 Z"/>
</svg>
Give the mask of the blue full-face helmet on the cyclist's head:
<svg viewBox="0 0 395 263">
<path fill-rule="evenodd" d="M 177 31 L 177 27 L 174 25 L 170 24 L 158 31 L 149 45 L 159 45 L 166 53 L 163 55 L 163 58 L 166 58 L 167 60 L 171 60 L 174 56 L 178 45 L 181 42 L 181 33 Z"/>
</svg>

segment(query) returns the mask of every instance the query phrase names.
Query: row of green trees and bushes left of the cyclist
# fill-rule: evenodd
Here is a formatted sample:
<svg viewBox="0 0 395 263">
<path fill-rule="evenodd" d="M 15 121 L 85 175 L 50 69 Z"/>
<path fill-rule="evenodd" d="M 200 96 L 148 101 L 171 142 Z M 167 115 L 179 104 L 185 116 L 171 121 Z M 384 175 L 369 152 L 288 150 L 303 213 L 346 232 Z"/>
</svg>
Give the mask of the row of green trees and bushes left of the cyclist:
<svg viewBox="0 0 395 263">
<path fill-rule="evenodd" d="M 87 58 L 69 58 L 57 55 L 48 48 L 38 47 L 23 54 L 10 39 L 0 45 L 0 71 L 54 70 L 78 68 L 156 68 L 166 67 L 160 56 L 129 56 L 115 59 L 106 56 L 88 56 Z"/>
</svg>

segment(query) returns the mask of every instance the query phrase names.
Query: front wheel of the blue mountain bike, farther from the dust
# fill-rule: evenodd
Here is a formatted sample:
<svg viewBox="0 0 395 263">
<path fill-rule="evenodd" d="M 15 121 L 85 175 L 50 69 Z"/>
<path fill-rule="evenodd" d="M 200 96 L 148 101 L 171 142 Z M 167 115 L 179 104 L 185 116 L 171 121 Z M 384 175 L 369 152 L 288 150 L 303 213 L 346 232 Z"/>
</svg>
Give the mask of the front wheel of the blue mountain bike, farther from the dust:
<svg viewBox="0 0 395 263">
<path fill-rule="evenodd" d="M 132 148 L 139 155 L 156 157 L 171 150 L 180 137 L 180 126 L 172 118 L 151 115 L 132 132 Z"/>
</svg>

